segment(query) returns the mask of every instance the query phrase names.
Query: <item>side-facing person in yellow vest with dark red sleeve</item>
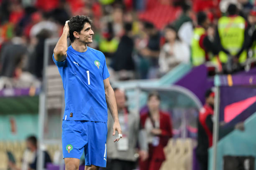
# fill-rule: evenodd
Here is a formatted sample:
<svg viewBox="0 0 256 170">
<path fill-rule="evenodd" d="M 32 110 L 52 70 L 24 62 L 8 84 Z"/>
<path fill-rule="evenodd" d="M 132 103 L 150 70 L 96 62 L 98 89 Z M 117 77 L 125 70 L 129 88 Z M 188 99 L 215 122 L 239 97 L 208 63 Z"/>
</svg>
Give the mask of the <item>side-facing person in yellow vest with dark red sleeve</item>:
<svg viewBox="0 0 256 170">
<path fill-rule="evenodd" d="M 197 27 L 194 29 L 194 35 L 191 43 L 192 64 L 198 66 L 204 64 L 207 60 L 212 60 L 209 52 L 218 54 L 218 48 L 214 45 L 214 31 L 210 28 L 210 20 L 204 12 L 197 14 Z"/>
</svg>

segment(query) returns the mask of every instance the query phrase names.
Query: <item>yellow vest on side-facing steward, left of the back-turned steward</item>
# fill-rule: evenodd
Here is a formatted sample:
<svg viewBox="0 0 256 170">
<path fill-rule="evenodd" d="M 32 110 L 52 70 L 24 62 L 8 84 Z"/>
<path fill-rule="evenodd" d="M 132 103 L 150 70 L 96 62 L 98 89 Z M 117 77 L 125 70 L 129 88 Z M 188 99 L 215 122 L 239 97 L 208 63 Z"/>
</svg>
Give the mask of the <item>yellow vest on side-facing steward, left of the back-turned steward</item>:
<svg viewBox="0 0 256 170">
<path fill-rule="evenodd" d="M 191 43 L 191 57 L 192 57 L 192 64 L 197 66 L 201 65 L 205 62 L 205 50 L 202 49 L 199 45 L 199 40 L 201 35 L 205 33 L 205 29 L 195 28 L 194 29 L 194 35 L 192 37 L 192 43 Z"/>
</svg>

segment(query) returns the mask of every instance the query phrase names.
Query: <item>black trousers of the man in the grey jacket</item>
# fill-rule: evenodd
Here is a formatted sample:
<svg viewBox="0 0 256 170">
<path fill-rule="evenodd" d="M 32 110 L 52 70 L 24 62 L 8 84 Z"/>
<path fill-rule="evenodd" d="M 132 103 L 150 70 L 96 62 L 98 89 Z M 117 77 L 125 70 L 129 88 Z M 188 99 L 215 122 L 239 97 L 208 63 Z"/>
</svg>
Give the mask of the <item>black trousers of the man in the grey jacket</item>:
<svg viewBox="0 0 256 170">
<path fill-rule="evenodd" d="M 136 162 L 113 159 L 107 162 L 105 170 L 134 170 L 135 168 Z"/>
</svg>

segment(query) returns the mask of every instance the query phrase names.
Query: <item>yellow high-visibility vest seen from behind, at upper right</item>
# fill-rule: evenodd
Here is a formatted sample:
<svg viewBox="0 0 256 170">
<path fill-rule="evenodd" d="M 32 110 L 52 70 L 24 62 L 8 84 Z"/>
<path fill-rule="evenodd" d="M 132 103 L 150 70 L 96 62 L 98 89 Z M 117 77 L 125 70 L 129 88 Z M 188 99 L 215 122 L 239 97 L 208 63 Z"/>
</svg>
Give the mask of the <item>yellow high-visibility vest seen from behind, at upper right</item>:
<svg viewBox="0 0 256 170">
<path fill-rule="evenodd" d="M 220 35 L 221 45 L 227 49 L 231 55 L 236 55 L 241 49 L 244 42 L 244 30 L 245 20 L 241 16 L 237 17 L 226 17 L 223 16 L 218 21 L 218 32 Z M 247 53 L 244 50 L 239 56 L 239 62 L 243 63 L 246 61 Z M 220 62 L 227 62 L 228 55 L 220 51 L 219 53 Z"/>
</svg>

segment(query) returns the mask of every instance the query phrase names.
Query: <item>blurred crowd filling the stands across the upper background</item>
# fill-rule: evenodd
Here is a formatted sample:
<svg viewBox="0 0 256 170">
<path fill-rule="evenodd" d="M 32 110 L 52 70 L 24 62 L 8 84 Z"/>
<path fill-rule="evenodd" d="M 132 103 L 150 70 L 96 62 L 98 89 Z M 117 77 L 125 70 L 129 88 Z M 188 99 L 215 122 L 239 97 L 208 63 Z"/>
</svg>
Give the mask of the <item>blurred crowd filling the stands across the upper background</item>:
<svg viewBox="0 0 256 170">
<path fill-rule="evenodd" d="M 44 41 L 66 20 L 87 15 L 90 47 L 105 54 L 110 80 L 152 79 L 180 63 L 210 72 L 251 67 L 256 58 L 253 0 L 0 0 L 0 89 L 39 87 Z M 160 7 L 174 9 L 174 19 Z M 161 9 L 160 9 L 161 10 Z M 143 18 L 147 13 L 150 18 Z M 250 62 L 248 62 L 250 59 Z"/>
</svg>

